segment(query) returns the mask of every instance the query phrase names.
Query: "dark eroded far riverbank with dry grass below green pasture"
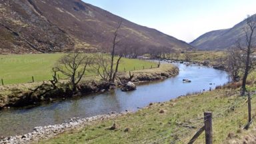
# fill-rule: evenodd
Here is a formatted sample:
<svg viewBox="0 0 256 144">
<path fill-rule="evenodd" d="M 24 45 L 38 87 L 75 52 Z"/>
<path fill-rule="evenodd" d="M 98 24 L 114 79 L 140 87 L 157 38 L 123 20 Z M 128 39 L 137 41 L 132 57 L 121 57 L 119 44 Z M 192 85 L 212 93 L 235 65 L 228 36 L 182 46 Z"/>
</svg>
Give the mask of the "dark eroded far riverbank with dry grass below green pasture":
<svg viewBox="0 0 256 144">
<path fill-rule="evenodd" d="M 134 75 L 132 81 L 155 81 L 174 77 L 179 69 L 170 64 L 160 65 L 159 68 L 131 71 Z M 129 79 L 128 72 L 117 75 L 117 85 Z M 109 83 L 100 81 L 97 76 L 85 77 L 78 86 L 81 95 L 102 93 L 109 89 Z M 41 102 L 53 102 L 73 97 L 73 93 L 65 81 L 61 81 L 57 88 L 53 88 L 49 81 L 43 83 L 25 83 L 17 85 L 0 86 L 0 108 L 23 107 L 39 105 Z"/>
</svg>

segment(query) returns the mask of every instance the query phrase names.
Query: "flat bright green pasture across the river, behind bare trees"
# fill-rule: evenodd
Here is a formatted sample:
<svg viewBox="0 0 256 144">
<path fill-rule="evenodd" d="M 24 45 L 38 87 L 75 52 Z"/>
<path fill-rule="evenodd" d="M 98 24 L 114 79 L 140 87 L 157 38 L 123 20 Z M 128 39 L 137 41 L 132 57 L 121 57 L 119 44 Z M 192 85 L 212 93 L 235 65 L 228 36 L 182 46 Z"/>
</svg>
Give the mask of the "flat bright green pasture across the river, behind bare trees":
<svg viewBox="0 0 256 144">
<path fill-rule="evenodd" d="M 63 55 L 65 54 L 0 55 L 0 79 L 3 79 L 5 85 L 29 83 L 32 81 L 32 76 L 35 81 L 49 80 L 53 74 L 51 68 Z M 149 69 L 151 65 L 157 66 L 156 63 L 140 61 L 139 59 L 122 59 L 119 71 L 133 70 L 134 67 L 135 69 L 143 69 L 143 66 L 145 69 Z M 85 75 L 96 74 L 90 71 Z M 60 77 L 65 78 L 63 75 Z"/>
</svg>

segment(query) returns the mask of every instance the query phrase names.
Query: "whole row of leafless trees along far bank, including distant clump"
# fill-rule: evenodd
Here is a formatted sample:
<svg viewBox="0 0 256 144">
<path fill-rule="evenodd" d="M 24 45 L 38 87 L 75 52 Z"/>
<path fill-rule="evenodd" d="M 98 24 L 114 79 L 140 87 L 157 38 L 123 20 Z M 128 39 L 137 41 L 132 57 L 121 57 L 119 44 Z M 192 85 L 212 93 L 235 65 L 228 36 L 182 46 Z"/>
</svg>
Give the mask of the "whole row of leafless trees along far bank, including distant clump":
<svg viewBox="0 0 256 144">
<path fill-rule="evenodd" d="M 73 91 L 77 91 L 77 84 L 81 81 L 83 75 L 85 75 L 88 67 L 92 67 L 103 81 L 113 84 L 117 77 L 119 63 L 121 62 L 122 57 L 137 58 L 137 56 L 142 54 L 138 45 L 133 45 L 131 43 L 127 48 L 123 47 L 122 43 L 119 43 L 121 40 L 125 41 L 125 39 L 118 37 L 121 25 L 122 21 L 118 23 L 117 28 L 113 33 L 111 49 L 108 49 L 108 51 L 103 53 L 94 54 L 81 53 L 79 51 L 69 53 L 59 59 L 57 65 L 53 68 L 53 72 L 60 72 L 69 77 Z M 116 49 L 117 44 L 122 48 Z M 142 49 L 143 48 L 141 48 L 141 50 Z M 147 49 L 147 53 L 153 58 L 165 57 L 171 59 L 171 57 L 173 58 L 171 53 L 175 52 L 168 47 L 147 47 Z M 177 56 L 179 53 L 180 52 L 176 52 L 175 55 Z"/>
</svg>

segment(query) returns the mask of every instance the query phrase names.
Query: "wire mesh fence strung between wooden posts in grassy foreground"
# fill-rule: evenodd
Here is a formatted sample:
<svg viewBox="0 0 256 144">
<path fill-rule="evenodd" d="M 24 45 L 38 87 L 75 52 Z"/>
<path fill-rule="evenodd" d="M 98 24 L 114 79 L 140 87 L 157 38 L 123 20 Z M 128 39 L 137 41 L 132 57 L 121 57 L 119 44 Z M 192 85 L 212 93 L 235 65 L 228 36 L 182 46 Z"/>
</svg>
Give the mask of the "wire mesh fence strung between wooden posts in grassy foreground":
<svg viewBox="0 0 256 144">
<path fill-rule="evenodd" d="M 233 103 L 230 105 L 227 105 L 225 107 L 219 107 L 214 110 L 213 112 L 213 117 L 211 118 L 214 124 L 218 125 L 223 125 L 222 131 L 225 130 L 225 125 L 234 125 L 233 121 L 237 121 L 241 129 L 244 129 L 248 123 L 252 123 L 252 121 L 255 119 L 256 115 L 256 107 L 253 107 L 251 111 L 253 111 L 253 117 L 251 121 L 247 121 L 248 113 L 245 111 L 247 109 L 247 102 L 248 98 L 251 100 L 254 100 L 253 102 L 256 103 L 255 101 L 255 93 L 251 97 L 239 97 L 237 95 L 237 98 Z M 249 94 L 249 95 L 251 95 Z M 189 121 L 197 121 L 197 123 L 193 123 L 189 125 L 189 127 L 185 127 L 183 129 L 177 128 L 177 129 L 170 129 L 169 131 L 165 131 L 163 133 L 159 133 L 157 135 L 147 135 L 147 139 L 144 139 L 142 143 L 150 143 L 150 144 L 155 144 L 155 143 L 189 143 L 192 141 L 192 143 L 198 138 L 196 137 L 195 139 L 190 139 L 190 141 L 186 141 L 188 135 L 193 135 L 199 127 L 203 128 L 205 127 L 205 117 L 208 115 L 205 115 L 203 117 L 194 117 L 192 119 L 189 119 Z M 226 117 L 226 118 L 223 118 Z M 224 121 L 224 123 L 219 123 L 219 121 Z M 196 127 L 197 129 L 191 129 L 191 127 Z M 214 127 L 214 125 L 213 125 Z M 205 131 L 205 130 L 204 130 Z M 216 135 L 214 137 L 218 137 L 217 132 L 215 132 Z M 184 136 L 186 139 L 184 139 Z M 208 144 L 208 143 L 207 143 Z"/>
</svg>

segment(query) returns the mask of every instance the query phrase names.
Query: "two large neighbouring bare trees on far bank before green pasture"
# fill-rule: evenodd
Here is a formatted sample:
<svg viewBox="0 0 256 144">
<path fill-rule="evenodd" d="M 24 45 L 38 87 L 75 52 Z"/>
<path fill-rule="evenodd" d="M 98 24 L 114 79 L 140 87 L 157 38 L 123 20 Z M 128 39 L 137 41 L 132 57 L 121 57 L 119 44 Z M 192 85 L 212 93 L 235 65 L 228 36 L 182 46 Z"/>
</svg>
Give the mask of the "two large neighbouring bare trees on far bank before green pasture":
<svg viewBox="0 0 256 144">
<path fill-rule="evenodd" d="M 120 41 L 120 39 L 117 39 L 117 36 L 121 24 L 122 22 L 120 22 L 117 29 L 115 29 L 111 55 L 105 53 L 90 54 L 75 51 L 74 53 L 69 53 L 61 57 L 57 62 L 57 65 L 53 68 L 53 72 L 61 72 L 63 75 L 69 77 L 73 91 L 77 91 L 77 84 L 81 81 L 83 75 L 85 75 L 88 66 L 93 67 L 104 81 L 114 83 L 119 63 L 123 57 L 123 55 L 119 53 L 119 57 L 117 58 L 117 61 L 115 61 L 115 56 L 117 55 L 115 52 L 116 46 Z"/>
</svg>

